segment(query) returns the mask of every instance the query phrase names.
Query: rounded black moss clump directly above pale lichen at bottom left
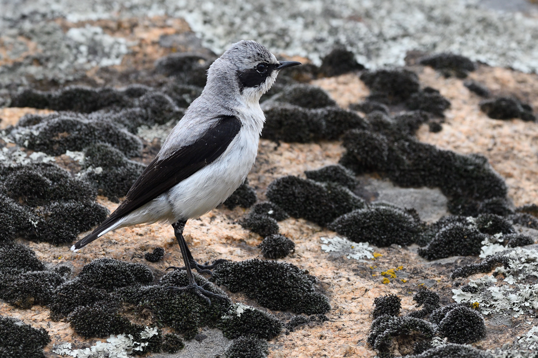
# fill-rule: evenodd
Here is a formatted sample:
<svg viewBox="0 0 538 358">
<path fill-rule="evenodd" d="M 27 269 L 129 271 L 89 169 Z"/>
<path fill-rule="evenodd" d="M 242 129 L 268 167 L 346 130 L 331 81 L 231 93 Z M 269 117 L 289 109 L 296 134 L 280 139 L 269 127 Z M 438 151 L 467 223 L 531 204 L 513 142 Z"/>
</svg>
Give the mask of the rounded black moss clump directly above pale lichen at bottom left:
<svg viewBox="0 0 538 358">
<path fill-rule="evenodd" d="M 125 333 L 130 326 L 129 320 L 118 313 L 116 305 L 107 302 L 76 307 L 68 319 L 73 330 L 85 338 Z"/>
</svg>

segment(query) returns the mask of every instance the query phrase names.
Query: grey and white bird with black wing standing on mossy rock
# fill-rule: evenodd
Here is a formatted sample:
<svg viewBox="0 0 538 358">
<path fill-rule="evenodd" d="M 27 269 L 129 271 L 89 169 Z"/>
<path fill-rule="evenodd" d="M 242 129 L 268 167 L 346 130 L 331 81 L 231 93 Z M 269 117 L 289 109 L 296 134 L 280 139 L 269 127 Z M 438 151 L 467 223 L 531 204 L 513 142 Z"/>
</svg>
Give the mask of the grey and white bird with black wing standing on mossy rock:
<svg viewBox="0 0 538 358">
<path fill-rule="evenodd" d="M 265 46 L 252 40 L 232 44 L 207 71 L 202 94 L 168 134 L 159 153 L 144 169 L 117 209 L 71 247 L 79 251 L 118 228 L 171 224 L 187 273 L 186 287 L 211 305 L 216 295 L 198 285 L 192 268 L 211 273 L 223 259 L 200 264 L 183 237 L 187 220 L 199 218 L 223 203 L 241 185 L 258 154 L 265 123 L 260 97 L 280 70 L 301 65 L 278 61 Z"/>
</svg>

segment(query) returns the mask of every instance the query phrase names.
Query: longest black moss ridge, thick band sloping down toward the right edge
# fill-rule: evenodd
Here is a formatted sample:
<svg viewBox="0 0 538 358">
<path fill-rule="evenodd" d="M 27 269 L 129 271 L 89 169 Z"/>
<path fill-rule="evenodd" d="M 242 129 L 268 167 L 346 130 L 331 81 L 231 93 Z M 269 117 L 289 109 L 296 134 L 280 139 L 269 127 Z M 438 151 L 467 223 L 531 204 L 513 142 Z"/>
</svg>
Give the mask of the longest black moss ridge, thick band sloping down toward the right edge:
<svg viewBox="0 0 538 358">
<path fill-rule="evenodd" d="M 471 201 L 475 206 L 469 209 L 477 212 L 486 200 L 506 198 L 505 181 L 485 157 L 443 151 L 412 137 L 384 133 L 387 136 L 370 131 L 346 133 L 347 152 L 340 163 L 357 174 L 379 173 L 400 187 L 438 187 L 450 199 L 451 211 Z"/>
</svg>

